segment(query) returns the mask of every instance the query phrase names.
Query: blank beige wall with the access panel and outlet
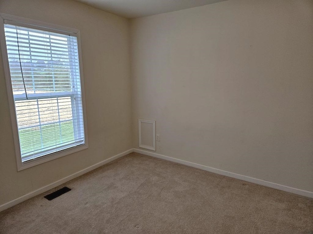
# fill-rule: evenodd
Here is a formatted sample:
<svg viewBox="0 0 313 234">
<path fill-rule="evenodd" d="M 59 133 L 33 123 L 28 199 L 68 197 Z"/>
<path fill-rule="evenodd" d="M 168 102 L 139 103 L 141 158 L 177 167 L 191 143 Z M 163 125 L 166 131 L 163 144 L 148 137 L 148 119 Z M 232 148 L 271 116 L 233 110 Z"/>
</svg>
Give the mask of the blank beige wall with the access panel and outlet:
<svg viewBox="0 0 313 234">
<path fill-rule="evenodd" d="M 131 20 L 156 153 L 313 191 L 313 1 L 228 0 Z"/>
</svg>

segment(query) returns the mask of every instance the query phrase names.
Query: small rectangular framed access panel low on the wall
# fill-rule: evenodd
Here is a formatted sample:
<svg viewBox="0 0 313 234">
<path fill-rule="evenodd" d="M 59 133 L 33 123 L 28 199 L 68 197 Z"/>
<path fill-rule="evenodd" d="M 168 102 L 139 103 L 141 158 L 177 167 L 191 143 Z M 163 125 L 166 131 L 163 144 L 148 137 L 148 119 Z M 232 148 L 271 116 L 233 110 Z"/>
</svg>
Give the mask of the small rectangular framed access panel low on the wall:
<svg viewBox="0 0 313 234">
<path fill-rule="evenodd" d="M 139 147 L 156 151 L 156 121 L 138 119 Z"/>
</svg>

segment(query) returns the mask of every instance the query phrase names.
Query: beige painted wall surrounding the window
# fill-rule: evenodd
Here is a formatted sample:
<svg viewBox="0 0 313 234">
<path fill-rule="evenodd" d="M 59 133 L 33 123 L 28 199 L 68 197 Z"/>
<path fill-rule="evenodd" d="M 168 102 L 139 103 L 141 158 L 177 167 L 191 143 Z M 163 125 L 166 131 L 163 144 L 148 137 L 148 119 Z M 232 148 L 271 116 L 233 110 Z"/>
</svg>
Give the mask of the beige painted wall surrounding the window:
<svg viewBox="0 0 313 234">
<path fill-rule="evenodd" d="M 0 56 L 0 205 L 132 148 L 129 20 L 72 0 L 1 0 L 0 12 L 79 29 L 89 148 L 17 172 Z"/>
</svg>

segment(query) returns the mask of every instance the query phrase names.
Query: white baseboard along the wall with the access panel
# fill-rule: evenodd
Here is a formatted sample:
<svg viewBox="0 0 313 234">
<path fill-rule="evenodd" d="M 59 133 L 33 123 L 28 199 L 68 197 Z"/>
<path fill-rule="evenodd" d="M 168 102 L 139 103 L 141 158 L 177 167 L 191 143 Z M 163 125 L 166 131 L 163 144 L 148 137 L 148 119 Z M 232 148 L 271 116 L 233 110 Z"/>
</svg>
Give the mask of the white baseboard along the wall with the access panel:
<svg viewBox="0 0 313 234">
<path fill-rule="evenodd" d="M 310 192 L 310 191 L 296 189 L 296 188 L 292 188 L 292 187 L 289 187 L 289 186 L 286 186 L 286 185 L 276 184 L 276 183 L 273 183 L 273 182 L 269 182 L 269 181 L 266 181 L 266 180 L 257 179 L 257 178 L 253 178 L 253 177 L 249 177 L 249 176 L 243 176 L 243 175 L 240 175 L 240 174 L 223 171 L 223 170 L 220 170 L 220 169 L 204 166 L 204 165 L 197 164 L 197 163 L 194 163 L 194 162 L 189 162 L 189 161 L 177 159 L 177 158 L 174 158 L 174 157 L 159 155 L 159 154 L 156 154 L 156 153 L 153 153 L 153 152 L 148 152 L 148 151 L 145 151 L 145 150 L 134 149 L 134 152 L 142 154 L 142 155 L 153 156 L 153 157 L 165 159 L 165 160 L 172 161 L 172 162 L 177 162 L 177 163 L 184 164 L 184 165 L 187 165 L 187 166 L 190 166 L 190 167 L 199 168 L 199 169 L 202 169 L 204 171 L 216 173 L 216 174 L 219 174 L 219 175 L 222 175 L 222 176 L 228 176 L 228 177 L 232 177 L 232 178 L 235 178 L 235 179 L 241 179 L 241 180 L 244 180 L 244 181 L 247 181 L 247 182 L 251 182 L 251 183 L 264 185 L 264 186 L 267 186 L 269 188 L 282 190 L 282 191 L 289 192 L 289 193 L 292 193 L 292 194 L 313 198 L 313 192 Z"/>
</svg>

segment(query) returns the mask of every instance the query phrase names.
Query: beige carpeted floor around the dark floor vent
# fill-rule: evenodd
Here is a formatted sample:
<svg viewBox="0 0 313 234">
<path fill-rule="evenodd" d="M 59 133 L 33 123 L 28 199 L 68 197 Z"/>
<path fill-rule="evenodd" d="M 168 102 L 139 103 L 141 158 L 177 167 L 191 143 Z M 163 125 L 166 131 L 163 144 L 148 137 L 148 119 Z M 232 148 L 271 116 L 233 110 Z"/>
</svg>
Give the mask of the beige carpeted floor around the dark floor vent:
<svg viewBox="0 0 313 234">
<path fill-rule="evenodd" d="M 313 234 L 313 200 L 132 153 L 1 212 L 0 233 Z"/>
</svg>

